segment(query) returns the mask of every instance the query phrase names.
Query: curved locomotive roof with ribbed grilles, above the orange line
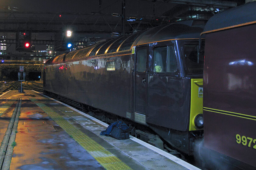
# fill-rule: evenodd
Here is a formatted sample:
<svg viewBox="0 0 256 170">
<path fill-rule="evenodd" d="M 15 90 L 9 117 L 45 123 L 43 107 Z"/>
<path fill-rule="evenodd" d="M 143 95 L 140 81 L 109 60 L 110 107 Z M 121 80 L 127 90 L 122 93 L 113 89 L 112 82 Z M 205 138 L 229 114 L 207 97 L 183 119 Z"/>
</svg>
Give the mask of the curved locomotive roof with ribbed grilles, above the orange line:
<svg viewBox="0 0 256 170">
<path fill-rule="evenodd" d="M 108 49 L 107 53 L 123 52 L 130 50 L 133 45 L 142 45 L 152 42 L 167 41 L 170 39 L 198 39 L 200 38 L 200 33 L 203 31 L 202 25 L 204 22 L 176 22 L 168 25 L 160 25 L 158 27 L 143 30 L 131 35 L 126 35 L 118 37 L 115 39 L 110 39 L 103 42 L 98 42 L 94 45 L 85 47 L 83 49 L 78 49 L 68 54 L 62 54 L 54 57 L 51 60 L 48 60 L 46 64 L 63 62 L 73 60 L 78 58 L 89 58 L 97 57 L 98 55 L 105 54 L 105 51 Z M 118 51 L 117 51 L 118 50 Z M 96 56 L 96 52 L 98 54 Z M 90 52 L 90 53 L 89 53 Z M 88 55 L 89 53 L 89 55 Z M 126 53 L 126 52 L 125 52 Z M 129 51 L 131 53 L 131 51 Z M 124 53 L 122 53 L 124 54 Z M 66 55 L 66 57 L 65 57 Z M 113 54 L 116 55 L 116 54 Z M 107 55 L 112 56 L 112 55 Z"/>
</svg>

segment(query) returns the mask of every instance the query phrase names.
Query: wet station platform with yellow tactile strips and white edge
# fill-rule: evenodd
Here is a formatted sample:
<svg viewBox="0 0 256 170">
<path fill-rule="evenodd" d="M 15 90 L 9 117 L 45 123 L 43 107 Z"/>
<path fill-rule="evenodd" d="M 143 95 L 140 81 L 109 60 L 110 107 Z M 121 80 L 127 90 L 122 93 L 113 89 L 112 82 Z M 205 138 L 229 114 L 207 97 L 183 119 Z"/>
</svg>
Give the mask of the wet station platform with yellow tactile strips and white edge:
<svg viewBox="0 0 256 170">
<path fill-rule="evenodd" d="M 130 136 L 101 136 L 108 124 L 33 90 L 0 96 L 0 169 L 199 170 Z"/>
</svg>

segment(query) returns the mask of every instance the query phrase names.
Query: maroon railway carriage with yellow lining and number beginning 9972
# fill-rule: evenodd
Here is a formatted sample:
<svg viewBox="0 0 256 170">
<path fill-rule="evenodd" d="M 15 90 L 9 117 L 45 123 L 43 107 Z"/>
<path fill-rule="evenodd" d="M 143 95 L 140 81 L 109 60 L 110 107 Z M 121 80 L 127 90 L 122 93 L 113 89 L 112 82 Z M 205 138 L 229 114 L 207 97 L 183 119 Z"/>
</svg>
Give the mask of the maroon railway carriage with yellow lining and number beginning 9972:
<svg viewBox="0 0 256 170">
<path fill-rule="evenodd" d="M 223 163 L 222 169 L 256 169 L 255 10 L 256 2 L 251 2 L 221 12 L 201 34 L 204 146 L 213 150 L 210 159 L 230 164 Z"/>
</svg>

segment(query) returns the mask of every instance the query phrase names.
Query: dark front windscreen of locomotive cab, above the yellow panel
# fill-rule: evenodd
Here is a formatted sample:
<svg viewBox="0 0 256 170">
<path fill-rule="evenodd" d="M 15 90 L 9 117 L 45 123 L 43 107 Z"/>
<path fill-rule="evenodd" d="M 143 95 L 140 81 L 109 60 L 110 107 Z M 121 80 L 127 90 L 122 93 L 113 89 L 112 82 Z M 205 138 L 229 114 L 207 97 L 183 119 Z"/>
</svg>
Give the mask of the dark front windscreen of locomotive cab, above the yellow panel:
<svg viewBox="0 0 256 170">
<path fill-rule="evenodd" d="M 185 42 L 182 50 L 187 71 L 189 73 L 203 72 L 204 42 L 201 42 L 201 47 L 199 47 L 198 42 Z"/>
</svg>

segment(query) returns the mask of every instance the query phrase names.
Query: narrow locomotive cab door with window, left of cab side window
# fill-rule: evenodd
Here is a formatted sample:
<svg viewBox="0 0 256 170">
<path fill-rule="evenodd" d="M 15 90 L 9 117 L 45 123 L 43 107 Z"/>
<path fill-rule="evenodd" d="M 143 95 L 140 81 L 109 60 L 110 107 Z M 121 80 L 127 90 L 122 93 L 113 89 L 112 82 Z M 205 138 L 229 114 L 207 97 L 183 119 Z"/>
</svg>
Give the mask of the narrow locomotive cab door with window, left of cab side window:
<svg viewBox="0 0 256 170">
<path fill-rule="evenodd" d="M 133 74 L 133 111 L 135 121 L 146 124 L 147 114 L 147 84 L 148 84 L 148 47 L 137 47 L 135 69 Z"/>
</svg>

